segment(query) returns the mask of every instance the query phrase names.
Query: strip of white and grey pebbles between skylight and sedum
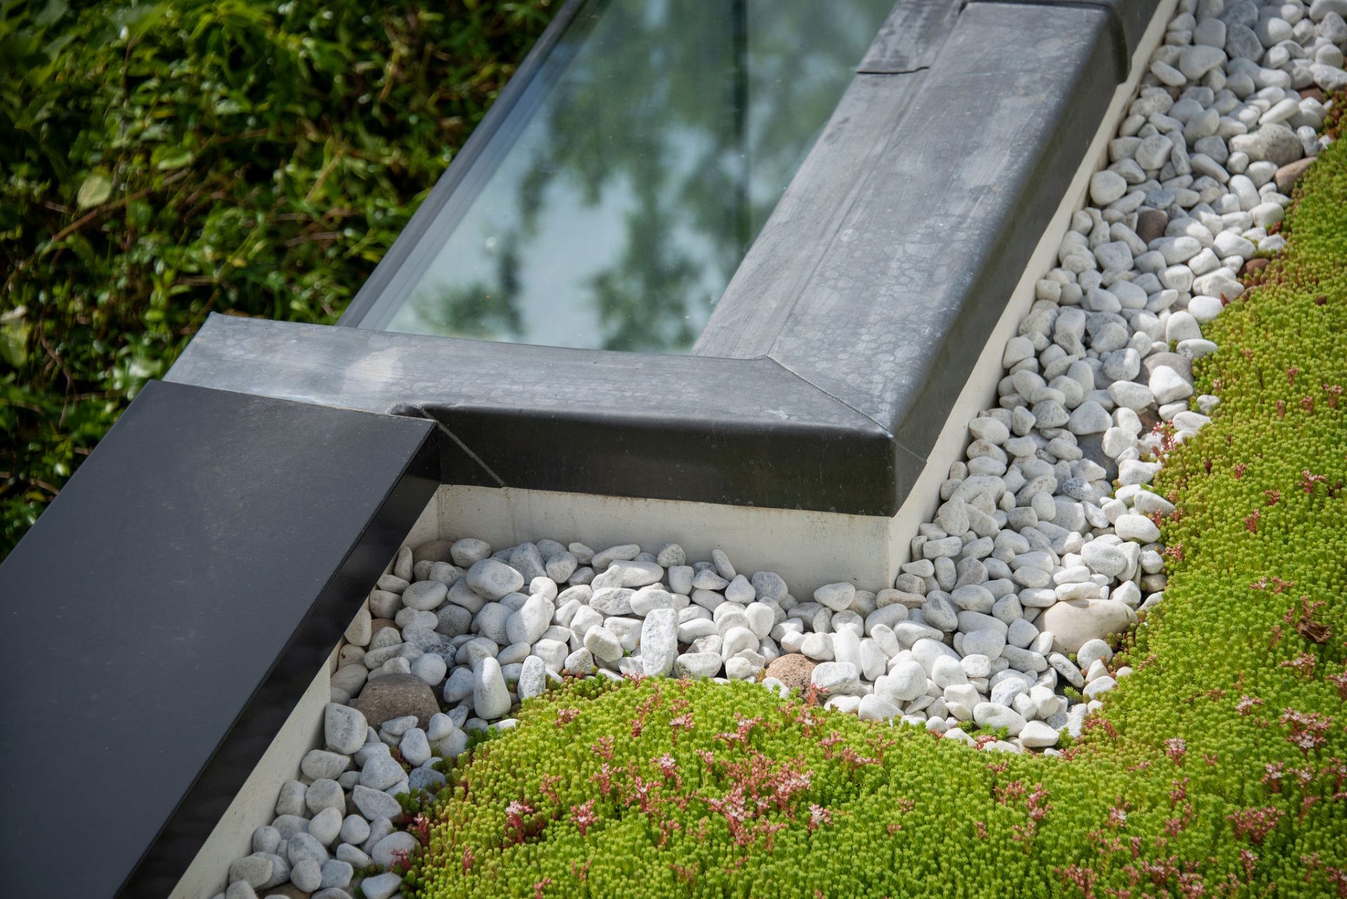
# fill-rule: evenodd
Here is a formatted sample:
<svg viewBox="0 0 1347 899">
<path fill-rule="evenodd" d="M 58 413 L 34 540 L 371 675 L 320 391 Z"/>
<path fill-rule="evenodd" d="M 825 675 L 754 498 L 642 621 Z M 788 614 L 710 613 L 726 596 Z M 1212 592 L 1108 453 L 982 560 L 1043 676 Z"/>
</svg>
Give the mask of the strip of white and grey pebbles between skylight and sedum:
<svg viewBox="0 0 1347 899">
<path fill-rule="evenodd" d="M 1216 349 L 1203 324 L 1285 244 L 1325 92 L 1347 86 L 1344 16 L 1347 0 L 1180 4 L 896 583 L 795 596 L 676 544 L 404 548 L 346 631 L 323 748 L 216 899 L 399 896 L 419 844 L 397 794 L 443 783 L 438 759 L 563 674 L 812 686 L 983 751 L 1079 733 L 1130 673 L 1109 638 L 1164 600 L 1173 506 L 1148 484 L 1218 404 L 1192 396 Z"/>
</svg>

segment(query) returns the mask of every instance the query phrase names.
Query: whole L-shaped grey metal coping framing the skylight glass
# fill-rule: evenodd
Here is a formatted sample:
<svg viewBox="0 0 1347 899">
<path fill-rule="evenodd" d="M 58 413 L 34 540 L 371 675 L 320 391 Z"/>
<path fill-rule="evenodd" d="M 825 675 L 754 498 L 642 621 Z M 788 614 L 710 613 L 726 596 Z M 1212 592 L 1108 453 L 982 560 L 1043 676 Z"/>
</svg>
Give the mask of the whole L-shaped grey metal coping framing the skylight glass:
<svg viewBox="0 0 1347 899">
<path fill-rule="evenodd" d="M 892 515 L 1156 5 L 901 0 L 691 355 L 216 315 L 167 380 L 434 419 L 446 483 Z"/>
</svg>

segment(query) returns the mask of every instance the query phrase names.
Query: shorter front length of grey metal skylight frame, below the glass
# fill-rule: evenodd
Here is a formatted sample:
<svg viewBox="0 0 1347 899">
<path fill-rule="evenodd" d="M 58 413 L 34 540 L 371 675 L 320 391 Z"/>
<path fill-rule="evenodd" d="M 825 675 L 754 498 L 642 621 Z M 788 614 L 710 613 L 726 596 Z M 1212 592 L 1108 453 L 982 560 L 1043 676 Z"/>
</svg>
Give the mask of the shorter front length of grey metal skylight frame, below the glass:
<svg viewBox="0 0 1347 899">
<path fill-rule="evenodd" d="M 512 487 L 892 514 L 884 428 L 770 359 L 603 353 L 211 316 L 168 373 L 432 417 Z M 455 482 L 457 483 L 457 482 Z"/>
</svg>

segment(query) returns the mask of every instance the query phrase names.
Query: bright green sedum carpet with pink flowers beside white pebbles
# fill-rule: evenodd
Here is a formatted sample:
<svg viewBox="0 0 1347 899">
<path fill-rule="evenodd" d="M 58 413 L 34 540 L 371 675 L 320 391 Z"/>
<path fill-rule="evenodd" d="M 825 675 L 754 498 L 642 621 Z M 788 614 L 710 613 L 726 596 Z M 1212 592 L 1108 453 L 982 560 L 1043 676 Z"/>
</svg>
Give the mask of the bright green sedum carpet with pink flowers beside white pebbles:
<svg viewBox="0 0 1347 899">
<path fill-rule="evenodd" d="M 1136 673 L 1063 755 L 744 682 L 572 682 L 419 809 L 404 892 L 1347 895 L 1347 145 L 1297 191 L 1197 365 L 1214 421 L 1157 479 L 1171 577 L 1114 659 Z"/>
</svg>

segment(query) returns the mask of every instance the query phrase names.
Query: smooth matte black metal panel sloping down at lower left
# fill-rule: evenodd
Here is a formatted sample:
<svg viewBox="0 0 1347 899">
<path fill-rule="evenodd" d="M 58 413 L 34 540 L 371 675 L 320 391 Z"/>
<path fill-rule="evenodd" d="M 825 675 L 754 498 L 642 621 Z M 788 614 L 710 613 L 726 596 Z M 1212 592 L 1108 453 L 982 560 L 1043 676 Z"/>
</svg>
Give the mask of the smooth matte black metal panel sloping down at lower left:
<svg viewBox="0 0 1347 899">
<path fill-rule="evenodd" d="M 5 895 L 168 895 L 432 495 L 432 433 L 145 386 L 0 565 Z"/>
</svg>

